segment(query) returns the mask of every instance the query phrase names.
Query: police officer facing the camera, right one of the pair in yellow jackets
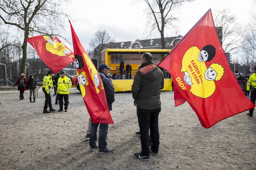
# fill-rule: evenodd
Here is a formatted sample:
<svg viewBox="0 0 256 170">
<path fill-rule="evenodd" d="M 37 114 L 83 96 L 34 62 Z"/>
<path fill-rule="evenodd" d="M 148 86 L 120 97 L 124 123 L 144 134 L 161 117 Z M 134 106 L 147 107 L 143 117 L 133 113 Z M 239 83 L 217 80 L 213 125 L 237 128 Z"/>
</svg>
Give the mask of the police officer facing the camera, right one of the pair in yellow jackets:
<svg viewBox="0 0 256 170">
<path fill-rule="evenodd" d="M 59 104 L 60 104 L 60 109 L 58 112 L 63 111 L 63 98 L 64 98 L 64 109 L 65 112 L 67 112 L 67 107 L 68 107 L 68 88 L 71 87 L 71 81 L 70 78 L 65 76 L 65 71 L 60 71 L 60 77 L 58 78 L 58 83 L 57 83 L 57 93 L 59 96 Z"/>
</svg>

